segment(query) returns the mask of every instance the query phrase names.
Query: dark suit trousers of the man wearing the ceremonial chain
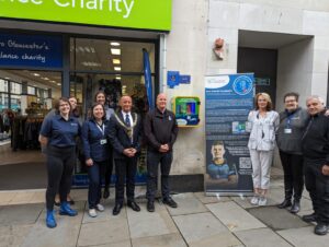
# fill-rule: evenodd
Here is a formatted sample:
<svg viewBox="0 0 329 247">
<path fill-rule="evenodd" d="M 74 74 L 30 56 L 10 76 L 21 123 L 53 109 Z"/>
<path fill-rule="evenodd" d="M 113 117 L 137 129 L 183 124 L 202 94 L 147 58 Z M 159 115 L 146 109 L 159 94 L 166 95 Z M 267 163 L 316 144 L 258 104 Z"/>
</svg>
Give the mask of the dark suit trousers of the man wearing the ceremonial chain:
<svg viewBox="0 0 329 247">
<path fill-rule="evenodd" d="M 127 200 L 134 201 L 137 157 L 115 158 L 114 163 L 116 175 L 115 203 L 122 204 L 124 201 L 125 181 Z"/>
</svg>

